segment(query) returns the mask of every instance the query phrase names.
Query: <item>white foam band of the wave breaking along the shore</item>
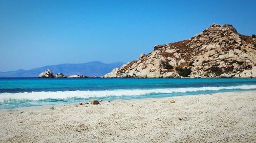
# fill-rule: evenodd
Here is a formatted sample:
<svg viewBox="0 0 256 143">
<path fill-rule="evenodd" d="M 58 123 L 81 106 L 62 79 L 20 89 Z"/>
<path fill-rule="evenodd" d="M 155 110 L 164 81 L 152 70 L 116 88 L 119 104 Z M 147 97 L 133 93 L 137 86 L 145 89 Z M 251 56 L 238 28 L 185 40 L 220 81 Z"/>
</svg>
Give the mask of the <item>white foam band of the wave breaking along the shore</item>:
<svg viewBox="0 0 256 143">
<path fill-rule="evenodd" d="M 131 89 L 131 90 L 105 90 L 105 91 L 57 91 L 57 92 L 25 92 L 25 93 L 1 93 L 0 102 L 16 100 L 42 100 L 42 99 L 67 99 L 72 97 L 90 98 L 106 96 L 136 96 L 146 94 L 171 94 L 199 91 L 219 91 L 233 89 L 256 89 L 256 85 L 239 85 L 230 87 L 201 87 L 201 88 L 172 88 L 172 89 Z"/>
</svg>

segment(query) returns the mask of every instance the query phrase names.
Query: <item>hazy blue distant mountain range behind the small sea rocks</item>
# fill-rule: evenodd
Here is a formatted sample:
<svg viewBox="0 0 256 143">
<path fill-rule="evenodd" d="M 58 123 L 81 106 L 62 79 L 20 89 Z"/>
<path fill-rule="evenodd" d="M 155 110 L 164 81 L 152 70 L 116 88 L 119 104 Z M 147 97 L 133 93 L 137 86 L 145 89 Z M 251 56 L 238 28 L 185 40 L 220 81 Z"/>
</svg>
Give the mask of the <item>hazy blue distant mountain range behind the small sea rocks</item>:
<svg viewBox="0 0 256 143">
<path fill-rule="evenodd" d="M 16 70 L 9 72 L 0 72 L 0 77 L 38 77 L 41 72 L 50 69 L 54 75 L 57 73 L 63 73 L 65 76 L 74 74 L 83 74 L 90 77 L 101 76 L 109 73 L 114 68 L 120 68 L 124 63 L 115 62 L 111 64 L 105 64 L 102 62 L 94 61 L 83 64 L 60 64 L 52 66 L 44 66 L 31 70 Z"/>
</svg>

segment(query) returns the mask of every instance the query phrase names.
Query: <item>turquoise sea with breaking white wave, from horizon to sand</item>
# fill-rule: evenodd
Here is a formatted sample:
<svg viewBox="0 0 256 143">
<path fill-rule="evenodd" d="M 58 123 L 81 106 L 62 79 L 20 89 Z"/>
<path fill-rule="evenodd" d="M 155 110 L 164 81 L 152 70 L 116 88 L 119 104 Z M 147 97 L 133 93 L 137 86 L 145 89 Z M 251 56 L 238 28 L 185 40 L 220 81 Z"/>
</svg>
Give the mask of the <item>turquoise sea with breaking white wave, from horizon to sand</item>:
<svg viewBox="0 0 256 143">
<path fill-rule="evenodd" d="M 255 78 L 40 79 L 0 78 L 0 109 L 256 90 Z"/>
</svg>

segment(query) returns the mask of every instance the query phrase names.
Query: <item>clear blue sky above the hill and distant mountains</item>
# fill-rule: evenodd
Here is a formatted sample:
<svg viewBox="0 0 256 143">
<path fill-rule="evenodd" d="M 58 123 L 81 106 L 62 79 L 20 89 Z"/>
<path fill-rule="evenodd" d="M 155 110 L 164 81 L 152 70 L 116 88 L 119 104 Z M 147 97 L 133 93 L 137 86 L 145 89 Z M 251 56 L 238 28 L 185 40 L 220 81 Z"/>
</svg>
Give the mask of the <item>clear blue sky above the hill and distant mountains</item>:
<svg viewBox="0 0 256 143">
<path fill-rule="evenodd" d="M 211 23 L 256 34 L 256 1 L 0 0 L 0 71 L 129 62 Z"/>
</svg>

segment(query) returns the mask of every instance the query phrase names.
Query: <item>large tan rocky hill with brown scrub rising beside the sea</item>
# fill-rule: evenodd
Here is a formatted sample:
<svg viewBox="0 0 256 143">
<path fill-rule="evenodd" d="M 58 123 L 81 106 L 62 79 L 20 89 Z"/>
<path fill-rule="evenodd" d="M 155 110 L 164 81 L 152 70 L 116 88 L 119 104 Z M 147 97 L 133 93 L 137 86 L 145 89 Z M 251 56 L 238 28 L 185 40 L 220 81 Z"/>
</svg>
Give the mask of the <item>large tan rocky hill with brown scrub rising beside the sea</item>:
<svg viewBox="0 0 256 143">
<path fill-rule="evenodd" d="M 256 39 L 232 25 L 212 24 L 194 37 L 155 45 L 148 54 L 104 75 L 136 78 L 255 77 Z"/>
</svg>

